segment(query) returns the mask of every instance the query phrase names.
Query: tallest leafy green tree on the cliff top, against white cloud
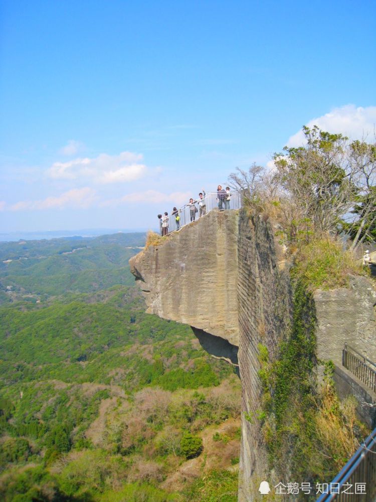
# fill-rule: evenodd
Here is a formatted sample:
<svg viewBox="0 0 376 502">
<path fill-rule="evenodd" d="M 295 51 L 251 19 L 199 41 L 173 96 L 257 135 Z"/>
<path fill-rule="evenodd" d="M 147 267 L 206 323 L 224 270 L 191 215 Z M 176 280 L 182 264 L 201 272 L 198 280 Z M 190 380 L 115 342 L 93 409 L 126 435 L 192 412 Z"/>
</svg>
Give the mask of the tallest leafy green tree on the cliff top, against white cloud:
<svg viewBox="0 0 376 502">
<path fill-rule="evenodd" d="M 301 221 L 308 219 L 316 232 L 334 231 L 356 193 L 344 168 L 347 138 L 317 126 L 303 132 L 306 146 L 274 155 L 275 178 Z"/>
</svg>

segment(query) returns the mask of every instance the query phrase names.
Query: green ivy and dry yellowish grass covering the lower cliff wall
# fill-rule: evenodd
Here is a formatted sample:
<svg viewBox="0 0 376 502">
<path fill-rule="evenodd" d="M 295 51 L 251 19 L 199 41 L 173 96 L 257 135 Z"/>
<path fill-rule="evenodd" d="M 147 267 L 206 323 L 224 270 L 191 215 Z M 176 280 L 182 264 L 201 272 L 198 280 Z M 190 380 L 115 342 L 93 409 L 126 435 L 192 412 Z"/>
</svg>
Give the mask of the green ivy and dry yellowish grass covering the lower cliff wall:
<svg viewBox="0 0 376 502">
<path fill-rule="evenodd" d="M 336 395 L 329 361 L 322 386 L 317 384 L 316 315 L 311 291 L 295 279 L 292 322 L 270 360 L 259 345 L 263 386 L 262 423 L 269 467 L 281 480 L 328 482 L 347 461 L 364 435 L 355 419 L 355 403 Z M 307 495 L 305 500 L 307 499 Z"/>
</svg>

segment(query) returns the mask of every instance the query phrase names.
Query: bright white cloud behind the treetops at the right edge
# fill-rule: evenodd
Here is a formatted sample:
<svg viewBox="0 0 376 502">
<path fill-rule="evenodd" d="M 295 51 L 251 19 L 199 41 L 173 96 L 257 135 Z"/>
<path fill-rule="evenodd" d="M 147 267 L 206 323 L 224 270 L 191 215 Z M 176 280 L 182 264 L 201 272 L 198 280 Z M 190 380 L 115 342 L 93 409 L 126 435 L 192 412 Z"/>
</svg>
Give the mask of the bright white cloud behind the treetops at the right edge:
<svg viewBox="0 0 376 502">
<path fill-rule="evenodd" d="M 321 117 L 309 120 L 308 127 L 318 126 L 322 131 L 341 133 L 352 140 L 366 138 L 372 139 L 376 127 L 376 106 L 359 106 L 347 104 L 332 109 Z M 299 147 L 305 144 L 302 131 L 291 136 L 287 142 L 288 147 Z"/>
</svg>

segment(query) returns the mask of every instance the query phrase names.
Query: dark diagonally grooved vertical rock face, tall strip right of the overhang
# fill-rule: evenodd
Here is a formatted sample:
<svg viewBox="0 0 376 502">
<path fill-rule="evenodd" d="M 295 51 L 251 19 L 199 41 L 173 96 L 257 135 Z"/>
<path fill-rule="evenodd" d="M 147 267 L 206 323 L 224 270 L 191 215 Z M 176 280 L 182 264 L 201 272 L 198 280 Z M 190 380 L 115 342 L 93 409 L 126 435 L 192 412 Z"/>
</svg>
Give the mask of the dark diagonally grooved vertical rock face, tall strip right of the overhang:
<svg viewBox="0 0 376 502">
<path fill-rule="evenodd" d="M 255 499 L 266 479 L 267 456 L 258 410 L 261 383 L 259 344 L 273 357 L 277 342 L 290 321 L 290 287 L 284 256 L 274 229 L 262 216 L 239 217 L 238 311 L 240 326 L 239 369 L 242 381 L 242 443 L 239 465 L 239 502 Z"/>
</svg>

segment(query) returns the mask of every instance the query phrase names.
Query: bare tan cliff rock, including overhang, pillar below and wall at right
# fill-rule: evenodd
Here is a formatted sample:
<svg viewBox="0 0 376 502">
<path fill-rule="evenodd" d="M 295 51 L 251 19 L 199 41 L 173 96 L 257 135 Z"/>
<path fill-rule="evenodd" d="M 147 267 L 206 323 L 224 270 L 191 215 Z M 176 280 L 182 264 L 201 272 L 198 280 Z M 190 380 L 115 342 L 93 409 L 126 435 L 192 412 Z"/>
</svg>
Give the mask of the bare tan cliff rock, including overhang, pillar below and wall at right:
<svg viewBox="0 0 376 502">
<path fill-rule="evenodd" d="M 268 472 L 258 418 L 260 347 L 273 359 L 292 322 L 289 264 L 276 230 L 267 217 L 251 216 L 245 209 L 212 211 L 130 260 L 147 312 L 190 324 L 210 353 L 239 364 L 240 502 L 258 499 L 259 483 Z M 355 277 L 349 289 L 315 293 L 320 359 L 339 366 L 345 341 L 376 358 L 375 296 L 367 279 Z"/>
</svg>

